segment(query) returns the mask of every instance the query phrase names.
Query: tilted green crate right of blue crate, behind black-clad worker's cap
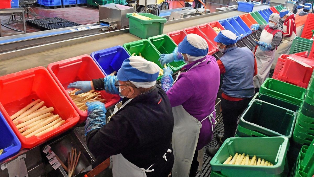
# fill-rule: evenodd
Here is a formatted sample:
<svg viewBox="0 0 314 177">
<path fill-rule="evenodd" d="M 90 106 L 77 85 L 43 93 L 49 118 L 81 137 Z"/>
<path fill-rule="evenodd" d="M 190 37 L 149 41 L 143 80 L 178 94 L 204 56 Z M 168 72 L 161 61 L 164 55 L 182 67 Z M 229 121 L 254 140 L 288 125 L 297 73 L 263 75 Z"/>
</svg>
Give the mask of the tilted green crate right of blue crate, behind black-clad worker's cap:
<svg viewBox="0 0 314 177">
<path fill-rule="evenodd" d="M 130 43 L 123 44 L 124 49 L 127 50 L 127 53 L 130 54 L 130 56 L 135 53 L 135 55 L 139 56 L 139 53 L 148 61 L 152 61 L 156 63 L 160 68 L 163 68 L 163 66 L 160 65 L 159 59 L 159 52 L 157 49 L 153 46 L 152 43 L 149 42 L 147 39 L 142 39 L 139 41 L 134 41 Z M 160 80 L 161 76 L 157 78 L 157 80 Z"/>
</svg>

